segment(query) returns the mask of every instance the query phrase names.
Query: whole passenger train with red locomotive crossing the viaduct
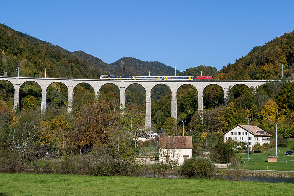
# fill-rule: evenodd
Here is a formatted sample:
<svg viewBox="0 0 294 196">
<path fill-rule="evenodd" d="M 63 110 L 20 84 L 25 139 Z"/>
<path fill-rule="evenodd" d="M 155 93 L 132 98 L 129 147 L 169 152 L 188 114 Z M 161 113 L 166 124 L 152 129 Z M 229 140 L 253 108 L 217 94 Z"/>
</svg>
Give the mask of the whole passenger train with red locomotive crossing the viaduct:
<svg viewBox="0 0 294 196">
<path fill-rule="evenodd" d="M 212 76 L 111 76 L 101 75 L 102 80 L 213 80 Z"/>
</svg>

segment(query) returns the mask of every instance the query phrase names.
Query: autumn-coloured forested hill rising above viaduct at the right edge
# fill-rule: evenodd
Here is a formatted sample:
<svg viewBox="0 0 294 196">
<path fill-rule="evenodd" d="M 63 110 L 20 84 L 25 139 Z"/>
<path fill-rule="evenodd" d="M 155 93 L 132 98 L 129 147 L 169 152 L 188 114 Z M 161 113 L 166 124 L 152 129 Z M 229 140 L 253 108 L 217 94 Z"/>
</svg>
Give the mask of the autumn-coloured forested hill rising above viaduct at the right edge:
<svg viewBox="0 0 294 196">
<path fill-rule="evenodd" d="M 284 77 L 293 78 L 294 71 L 294 31 L 276 37 L 262 46 L 256 46 L 246 56 L 242 56 L 229 64 L 229 80 L 254 80 L 281 78 L 282 65 Z M 291 76 L 292 75 L 292 76 Z M 218 73 L 217 79 L 227 77 L 227 67 L 224 66 Z"/>
</svg>

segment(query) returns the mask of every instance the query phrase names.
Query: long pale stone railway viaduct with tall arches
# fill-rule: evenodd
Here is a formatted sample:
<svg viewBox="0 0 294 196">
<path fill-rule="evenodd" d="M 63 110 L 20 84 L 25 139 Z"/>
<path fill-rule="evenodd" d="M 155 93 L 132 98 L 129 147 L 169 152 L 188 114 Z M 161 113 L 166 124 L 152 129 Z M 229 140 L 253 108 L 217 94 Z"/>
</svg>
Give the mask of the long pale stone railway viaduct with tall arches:
<svg viewBox="0 0 294 196">
<path fill-rule="evenodd" d="M 151 89 L 158 84 L 165 84 L 171 89 L 171 117 L 177 119 L 177 90 L 184 84 L 190 84 L 194 86 L 198 92 L 198 112 L 203 111 L 203 90 L 211 85 L 216 84 L 220 86 L 224 95 L 226 96 L 228 87 L 235 86 L 237 84 L 243 84 L 248 87 L 258 87 L 266 83 L 265 80 L 259 81 L 165 81 L 165 80 L 154 80 L 154 81 L 140 81 L 140 80 L 95 80 L 95 79 L 70 79 L 70 78 L 26 78 L 26 77 L 0 77 L 1 80 L 6 80 L 12 83 L 14 86 L 14 109 L 19 103 L 19 89 L 22 84 L 28 81 L 36 82 L 40 85 L 42 89 L 42 101 L 41 110 L 46 111 L 46 90 L 50 84 L 55 82 L 63 83 L 68 88 L 68 111 L 70 112 L 72 107 L 72 98 L 74 87 L 80 83 L 90 84 L 95 94 L 99 92 L 100 88 L 105 84 L 114 84 L 120 90 L 120 100 L 119 103 L 121 108 L 125 106 L 125 90 L 128 86 L 132 84 L 139 84 L 143 86 L 146 91 L 146 115 L 145 115 L 145 128 L 151 128 Z"/>
</svg>

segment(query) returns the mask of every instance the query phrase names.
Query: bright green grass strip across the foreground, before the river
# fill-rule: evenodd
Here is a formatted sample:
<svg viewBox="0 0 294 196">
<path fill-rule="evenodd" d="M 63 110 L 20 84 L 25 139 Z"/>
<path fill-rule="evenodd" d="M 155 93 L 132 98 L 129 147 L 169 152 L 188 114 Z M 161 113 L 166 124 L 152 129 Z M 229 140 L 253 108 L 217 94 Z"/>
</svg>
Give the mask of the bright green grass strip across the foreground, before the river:
<svg viewBox="0 0 294 196">
<path fill-rule="evenodd" d="M 293 188 L 269 182 L 0 174 L 0 195 L 293 195 Z"/>
</svg>

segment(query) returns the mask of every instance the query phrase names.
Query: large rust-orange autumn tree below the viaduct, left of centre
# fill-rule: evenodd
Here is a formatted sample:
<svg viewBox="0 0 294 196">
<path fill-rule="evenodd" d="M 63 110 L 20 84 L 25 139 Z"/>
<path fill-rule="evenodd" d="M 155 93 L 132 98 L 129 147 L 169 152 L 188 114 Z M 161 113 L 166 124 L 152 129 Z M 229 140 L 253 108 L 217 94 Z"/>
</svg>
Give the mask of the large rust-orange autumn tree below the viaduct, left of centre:
<svg viewBox="0 0 294 196">
<path fill-rule="evenodd" d="M 76 113 L 73 127 L 74 146 L 87 153 L 98 143 L 108 143 L 108 134 L 118 119 L 119 110 L 106 100 L 88 101 Z"/>
</svg>

